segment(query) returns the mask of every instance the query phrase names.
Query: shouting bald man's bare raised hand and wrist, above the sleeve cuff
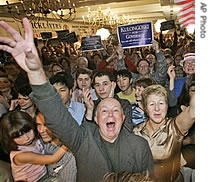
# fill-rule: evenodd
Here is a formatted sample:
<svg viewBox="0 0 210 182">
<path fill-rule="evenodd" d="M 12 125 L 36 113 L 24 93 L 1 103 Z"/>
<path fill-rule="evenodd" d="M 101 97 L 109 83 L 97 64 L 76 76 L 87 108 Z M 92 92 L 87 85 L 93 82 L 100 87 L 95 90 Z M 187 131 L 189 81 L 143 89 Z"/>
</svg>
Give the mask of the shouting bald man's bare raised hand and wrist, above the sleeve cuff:
<svg viewBox="0 0 210 182">
<path fill-rule="evenodd" d="M 32 85 L 46 83 L 47 77 L 34 44 L 33 31 L 29 20 L 23 18 L 25 39 L 6 22 L 0 21 L 0 26 L 13 37 L 13 39 L 0 37 L 0 42 L 5 44 L 1 45 L 0 43 L 0 50 L 8 52 L 14 57 L 18 65 L 27 72 Z"/>
</svg>

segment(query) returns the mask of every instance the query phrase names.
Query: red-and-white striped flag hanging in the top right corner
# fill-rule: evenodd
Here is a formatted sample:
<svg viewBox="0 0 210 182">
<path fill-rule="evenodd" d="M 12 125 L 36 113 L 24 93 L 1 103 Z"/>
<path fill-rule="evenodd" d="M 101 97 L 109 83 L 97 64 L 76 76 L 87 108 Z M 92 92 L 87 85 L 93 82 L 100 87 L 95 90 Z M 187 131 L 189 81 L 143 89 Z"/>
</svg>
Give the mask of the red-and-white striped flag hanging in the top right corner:
<svg viewBox="0 0 210 182">
<path fill-rule="evenodd" d="M 181 8 L 177 14 L 180 26 L 195 24 L 195 0 L 174 0 L 174 3 Z"/>
</svg>

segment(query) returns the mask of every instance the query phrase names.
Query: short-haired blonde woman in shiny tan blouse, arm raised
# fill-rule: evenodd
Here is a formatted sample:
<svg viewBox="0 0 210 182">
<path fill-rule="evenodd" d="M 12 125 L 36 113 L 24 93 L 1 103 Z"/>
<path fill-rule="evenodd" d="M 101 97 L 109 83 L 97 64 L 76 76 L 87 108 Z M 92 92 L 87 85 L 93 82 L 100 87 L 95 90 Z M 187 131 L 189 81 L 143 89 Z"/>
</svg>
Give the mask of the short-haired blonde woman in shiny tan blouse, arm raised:
<svg viewBox="0 0 210 182">
<path fill-rule="evenodd" d="M 138 124 L 133 132 L 144 137 L 154 159 L 154 176 L 161 181 L 183 181 L 180 173 L 181 146 L 185 135 L 195 122 L 194 95 L 189 106 L 174 118 L 167 118 L 168 93 L 161 85 L 151 85 L 142 93 L 142 105 L 147 121 Z"/>
</svg>

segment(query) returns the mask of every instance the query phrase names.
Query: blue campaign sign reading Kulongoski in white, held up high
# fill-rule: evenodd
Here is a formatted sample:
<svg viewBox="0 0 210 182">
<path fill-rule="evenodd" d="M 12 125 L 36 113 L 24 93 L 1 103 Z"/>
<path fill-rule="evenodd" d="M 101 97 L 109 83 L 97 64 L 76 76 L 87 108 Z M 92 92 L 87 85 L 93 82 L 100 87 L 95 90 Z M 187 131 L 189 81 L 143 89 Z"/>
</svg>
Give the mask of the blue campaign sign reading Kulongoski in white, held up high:
<svg viewBox="0 0 210 182">
<path fill-rule="evenodd" d="M 152 22 L 118 26 L 117 35 L 123 48 L 150 46 L 154 39 Z"/>
</svg>

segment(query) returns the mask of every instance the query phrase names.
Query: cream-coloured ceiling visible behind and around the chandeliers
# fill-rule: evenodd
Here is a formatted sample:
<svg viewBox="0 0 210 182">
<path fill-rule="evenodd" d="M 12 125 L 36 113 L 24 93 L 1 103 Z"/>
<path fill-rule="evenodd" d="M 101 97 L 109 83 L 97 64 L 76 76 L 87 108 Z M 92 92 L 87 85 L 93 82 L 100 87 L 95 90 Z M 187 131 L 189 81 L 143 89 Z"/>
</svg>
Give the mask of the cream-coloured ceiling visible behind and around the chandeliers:
<svg viewBox="0 0 210 182">
<path fill-rule="evenodd" d="M 31 0 L 24 0 L 29 2 Z M 46 1 L 46 0 L 43 0 Z M 51 0 L 52 1 L 52 0 Z M 53 0 L 56 1 L 56 0 Z M 67 1 L 67 0 L 66 0 Z M 178 7 L 174 0 L 71 0 L 76 6 L 75 21 L 83 21 L 82 16 L 87 16 L 88 7 L 91 11 L 96 11 L 99 6 L 102 10 L 110 8 L 114 14 L 126 15 L 130 19 L 138 22 L 153 21 L 158 19 L 176 19 Z M 5 0 L 0 0 L 0 17 L 11 16 L 8 13 Z M 9 3 L 15 9 L 15 5 L 20 0 L 9 0 Z M 38 2 L 38 0 L 36 0 Z M 15 3 L 15 4 L 13 4 Z"/>
</svg>

